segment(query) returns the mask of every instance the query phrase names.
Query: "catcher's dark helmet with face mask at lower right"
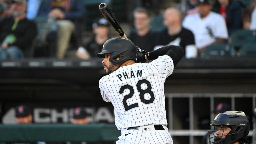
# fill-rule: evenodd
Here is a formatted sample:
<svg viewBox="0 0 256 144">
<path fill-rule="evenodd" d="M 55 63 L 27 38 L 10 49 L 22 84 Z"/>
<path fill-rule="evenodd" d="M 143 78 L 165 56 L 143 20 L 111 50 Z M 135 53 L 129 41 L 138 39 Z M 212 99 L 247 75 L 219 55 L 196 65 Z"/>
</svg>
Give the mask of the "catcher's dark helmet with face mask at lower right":
<svg viewBox="0 0 256 144">
<path fill-rule="evenodd" d="M 214 131 L 208 131 L 210 144 L 233 144 L 241 140 L 249 142 L 246 137 L 250 131 L 250 124 L 242 111 L 226 111 L 219 113 L 215 119 L 211 121 L 210 125 L 214 126 Z M 231 128 L 224 138 L 222 138 L 222 135 L 216 135 L 217 131 L 223 134 L 223 126 Z M 221 127 L 221 130 L 218 130 L 219 127 Z"/>
</svg>

